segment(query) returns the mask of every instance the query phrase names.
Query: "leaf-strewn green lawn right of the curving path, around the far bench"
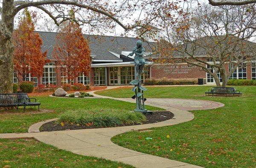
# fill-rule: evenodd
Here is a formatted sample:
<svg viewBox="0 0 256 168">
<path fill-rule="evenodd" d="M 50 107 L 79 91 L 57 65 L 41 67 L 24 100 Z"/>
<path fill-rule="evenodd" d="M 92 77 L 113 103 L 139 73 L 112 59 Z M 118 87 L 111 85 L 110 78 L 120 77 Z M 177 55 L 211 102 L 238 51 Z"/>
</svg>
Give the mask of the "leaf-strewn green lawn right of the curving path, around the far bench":
<svg viewBox="0 0 256 168">
<path fill-rule="evenodd" d="M 112 138 L 114 143 L 203 167 L 255 167 L 256 87 L 236 86 L 243 96 L 227 98 L 204 96 L 210 86 L 147 88 L 146 98 L 202 99 L 218 101 L 225 106 L 192 111 L 194 120 L 175 126 L 120 134 Z M 97 94 L 122 98 L 133 95 L 130 88 L 98 91 Z M 153 140 L 145 140 L 146 137 Z"/>
</svg>

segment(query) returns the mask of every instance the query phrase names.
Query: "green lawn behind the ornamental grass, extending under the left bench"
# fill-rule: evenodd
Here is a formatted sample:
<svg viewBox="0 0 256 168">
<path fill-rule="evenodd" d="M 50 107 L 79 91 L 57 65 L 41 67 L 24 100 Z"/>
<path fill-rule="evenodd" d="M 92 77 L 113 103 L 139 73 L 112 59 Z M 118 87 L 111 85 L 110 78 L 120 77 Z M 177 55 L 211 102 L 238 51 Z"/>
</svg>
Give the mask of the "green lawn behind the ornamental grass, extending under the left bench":
<svg viewBox="0 0 256 168">
<path fill-rule="evenodd" d="M 23 110 L 12 110 L 20 112 L 19 115 L 1 114 L 0 111 L 0 133 L 22 133 L 27 132 L 29 126 L 41 120 L 57 118 L 63 111 L 69 109 L 94 109 L 95 106 L 101 109 L 131 110 L 135 105 L 128 102 L 116 101 L 102 98 L 53 98 L 49 96 L 35 97 L 41 102 L 40 109 L 52 109 L 55 112 L 41 114 L 23 114 Z M 30 107 L 27 107 L 30 108 Z M 147 106 L 147 109 L 157 110 L 158 108 Z M 2 111 L 3 112 L 3 111 Z"/>
</svg>

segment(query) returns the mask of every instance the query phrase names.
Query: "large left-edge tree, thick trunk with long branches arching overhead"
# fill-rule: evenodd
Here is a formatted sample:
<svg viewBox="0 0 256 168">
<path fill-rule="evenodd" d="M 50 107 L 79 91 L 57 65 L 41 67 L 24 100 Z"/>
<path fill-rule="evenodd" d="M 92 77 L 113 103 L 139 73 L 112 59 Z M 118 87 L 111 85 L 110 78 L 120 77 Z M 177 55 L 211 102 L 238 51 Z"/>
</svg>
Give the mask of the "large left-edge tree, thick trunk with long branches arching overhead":
<svg viewBox="0 0 256 168">
<path fill-rule="evenodd" d="M 114 30 L 116 25 L 131 30 L 145 28 L 159 19 L 159 11 L 169 6 L 176 10 L 171 0 L 1 0 L 0 1 L 0 92 L 12 92 L 13 45 L 12 33 L 15 16 L 24 8 L 34 7 L 47 14 L 56 25 L 69 20 L 73 9 L 79 25 L 88 25 L 89 31 Z M 154 24 L 152 24 L 154 25 Z"/>
</svg>

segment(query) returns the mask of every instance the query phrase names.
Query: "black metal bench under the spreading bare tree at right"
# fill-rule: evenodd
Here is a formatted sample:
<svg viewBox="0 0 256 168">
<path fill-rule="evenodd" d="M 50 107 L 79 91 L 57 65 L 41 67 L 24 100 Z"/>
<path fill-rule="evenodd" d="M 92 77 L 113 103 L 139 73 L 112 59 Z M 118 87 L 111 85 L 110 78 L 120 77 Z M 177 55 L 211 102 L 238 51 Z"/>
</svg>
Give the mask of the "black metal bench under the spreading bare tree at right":
<svg viewBox="0 0 256 168">
<path fill-rule="evenodd" d="M 242 95 L 242 93 L 239 90 L 236 90 L 235 87 L 212 87 L 211 90 L 208 90 L 208 92 L 205 92 L 205 95 Z"/>
</svg>

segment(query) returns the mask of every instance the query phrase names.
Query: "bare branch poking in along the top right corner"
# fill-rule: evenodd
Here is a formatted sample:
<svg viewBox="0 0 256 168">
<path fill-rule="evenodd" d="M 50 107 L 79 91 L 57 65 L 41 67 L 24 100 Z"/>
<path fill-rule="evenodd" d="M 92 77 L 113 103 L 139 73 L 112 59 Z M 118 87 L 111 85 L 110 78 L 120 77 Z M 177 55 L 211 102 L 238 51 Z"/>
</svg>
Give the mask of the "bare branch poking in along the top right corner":
<svg viewBox="0 0 256 168">
<path fill-rule="evenodd" d="M 221 5 L 247 5 L 251 3 L 256 3 L 256 0 L 209 0 L 209 4 L 212 6 L 221 6 Z"/>
</svg>

